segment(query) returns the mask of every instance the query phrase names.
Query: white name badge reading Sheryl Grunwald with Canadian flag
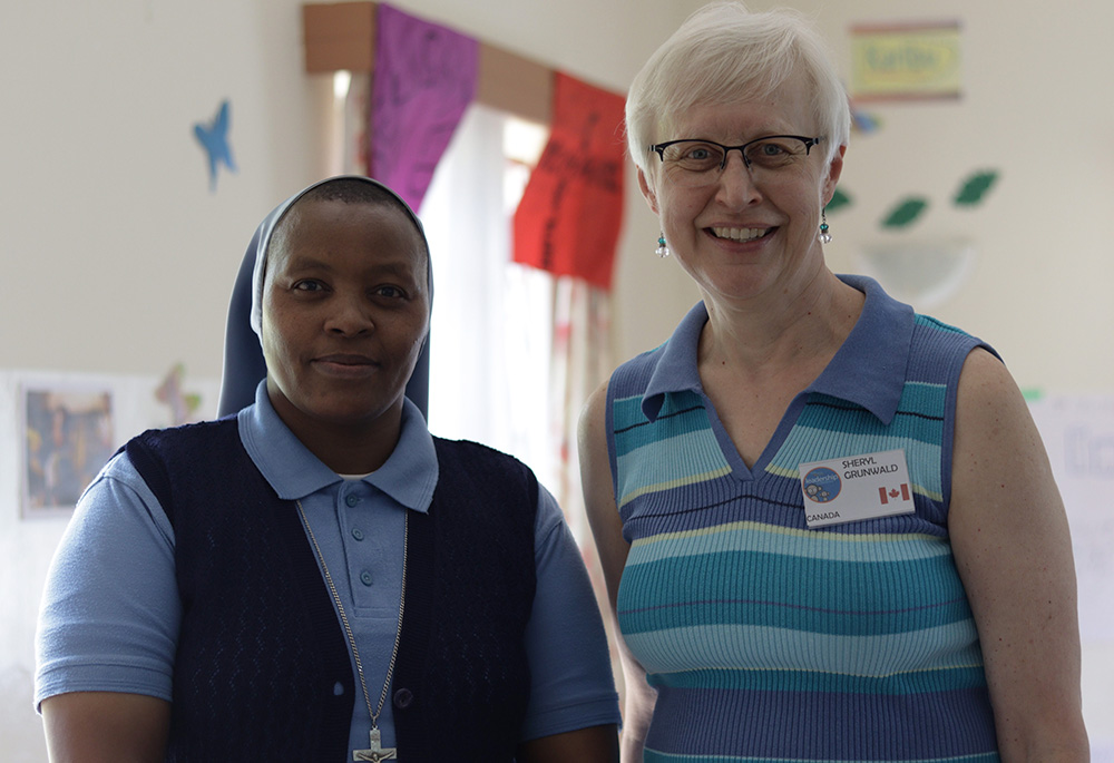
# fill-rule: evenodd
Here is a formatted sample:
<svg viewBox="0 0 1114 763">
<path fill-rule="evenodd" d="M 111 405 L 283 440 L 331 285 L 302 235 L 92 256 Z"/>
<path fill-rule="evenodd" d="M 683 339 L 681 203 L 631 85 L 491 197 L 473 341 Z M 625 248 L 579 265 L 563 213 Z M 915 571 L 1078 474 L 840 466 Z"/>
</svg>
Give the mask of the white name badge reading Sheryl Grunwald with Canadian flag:
<svg viewBox="0 0 1114 763">
<path fill-rule="evenodd" d="M 903 450 L 812 461 L 798 467 L 809 527 L 912 513 Z"/>
</svg>

